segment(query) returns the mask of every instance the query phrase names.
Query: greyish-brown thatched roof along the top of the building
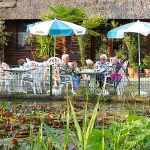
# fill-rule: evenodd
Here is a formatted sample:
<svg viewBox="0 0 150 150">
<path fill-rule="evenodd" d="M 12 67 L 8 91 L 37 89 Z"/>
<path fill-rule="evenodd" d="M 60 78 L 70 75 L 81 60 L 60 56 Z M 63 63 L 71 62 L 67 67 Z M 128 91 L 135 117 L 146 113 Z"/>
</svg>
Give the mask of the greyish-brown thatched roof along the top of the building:
<svg viewBox="0 0 150 150">
<path fill-rule="evenodd" d="M 55 6 L 59 3 L 86 8 L 89 16 L 97 15 L 108 19 L 150 19 L 150 0 L 0 0 L 0 17 L 40 19 L 49 4 Z"/>
</svg>

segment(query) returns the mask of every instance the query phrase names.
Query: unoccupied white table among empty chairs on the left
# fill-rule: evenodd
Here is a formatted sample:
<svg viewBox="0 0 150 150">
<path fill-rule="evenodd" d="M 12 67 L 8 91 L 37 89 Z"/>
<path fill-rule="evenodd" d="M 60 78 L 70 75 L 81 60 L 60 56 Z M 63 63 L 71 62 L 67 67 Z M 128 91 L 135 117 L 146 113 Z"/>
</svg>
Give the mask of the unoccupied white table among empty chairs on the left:
<svg viewBox="0 0 150 150">
<path fill-rule="evenodd" d="M 22 68 L 22 67 L 15 67 L 10 69 L 4 69 L 4 71 L 12 73 L 12 75 L 15 76 L 14 79 L 16 79 L 16 91 L 17 92 L 23 92 L 23 85 L 22 85 L 22 75 L 26 72 L 30 72 L 32 70 L 35 70 L 36 68 Z"/>
</svg>

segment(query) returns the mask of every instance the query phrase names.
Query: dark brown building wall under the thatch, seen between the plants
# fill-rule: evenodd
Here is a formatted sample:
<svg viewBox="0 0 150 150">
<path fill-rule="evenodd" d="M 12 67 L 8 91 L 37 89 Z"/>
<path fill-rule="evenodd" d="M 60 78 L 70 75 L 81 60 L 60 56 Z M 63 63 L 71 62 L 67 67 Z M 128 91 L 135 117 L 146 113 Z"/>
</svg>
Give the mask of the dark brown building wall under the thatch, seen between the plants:
<svg viewBox="0 0 150 150">
<path fill-rule="evenodd" d="M 7 20 L 5 21 L 6 25 L 6 31 L 9 33 L 8 37 L 8 45 L 5 47 L 5 62 L 10 65 L 17 65 L 18 59 L 20 58 L 30 58 L 33 59 L 31 50 L 27 48 L 20 48 L 17 46 L 17 32 L 18 32 L 18 24 L 21 22 L 37 22 L 37 20 Z M 63 40 L 64 37 L 62 37 L 61 42 L 62 45 L 65 45 Z M 58 42 L 59 43 L 59 42 Z M 90 45 L 90 44 L 89 44 Z M 65 47 L 60 46 L 57 48 L 57 52 L 59 54 L 59 57 L 64 53 Z M 71 42 L 70 42 L 70 50 L 69 50 L 70 60 L 71 61 L 78 61 L 80 62 L 80 54 L 79 54 L 79 45 L 77 43 L 77 37 L 72 36 Z M 88 48 L 86 50 L 87 56 L 90 54 L 90 49 Z M 88 57 L 89 58 L 89 57 Z"/>
</svg>

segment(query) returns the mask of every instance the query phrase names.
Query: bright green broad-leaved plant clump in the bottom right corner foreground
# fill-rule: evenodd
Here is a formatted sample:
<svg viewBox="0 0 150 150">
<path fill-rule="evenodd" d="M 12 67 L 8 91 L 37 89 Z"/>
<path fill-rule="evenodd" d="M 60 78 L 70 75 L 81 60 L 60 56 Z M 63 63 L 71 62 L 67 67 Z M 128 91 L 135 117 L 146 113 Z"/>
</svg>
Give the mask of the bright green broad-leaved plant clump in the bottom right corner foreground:
<svg viewBox="0 0 150 150">
<path fill-rule="evenodd" d="M 105 141 L 109 149 L 147 149 L 150 146 L 150 119 L 129 116 L 124 123 L 111 121 Z"/>
</svg>

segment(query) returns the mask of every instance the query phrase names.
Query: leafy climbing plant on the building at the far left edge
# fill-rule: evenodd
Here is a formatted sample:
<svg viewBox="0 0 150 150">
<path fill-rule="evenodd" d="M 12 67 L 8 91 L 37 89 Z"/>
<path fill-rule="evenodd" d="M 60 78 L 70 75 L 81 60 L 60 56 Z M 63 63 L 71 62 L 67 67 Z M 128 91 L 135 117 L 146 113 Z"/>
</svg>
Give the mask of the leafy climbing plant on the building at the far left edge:
<svg viewBox="0 0 150 150">
<path fill-rule="evenodd" d="M 4 46 L 7 45 L 7 35 L 4 21 L 0 20 L 0 62 L 4 61 Z"/>
</svg>

